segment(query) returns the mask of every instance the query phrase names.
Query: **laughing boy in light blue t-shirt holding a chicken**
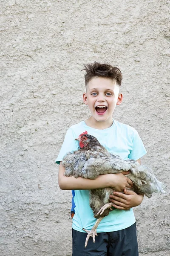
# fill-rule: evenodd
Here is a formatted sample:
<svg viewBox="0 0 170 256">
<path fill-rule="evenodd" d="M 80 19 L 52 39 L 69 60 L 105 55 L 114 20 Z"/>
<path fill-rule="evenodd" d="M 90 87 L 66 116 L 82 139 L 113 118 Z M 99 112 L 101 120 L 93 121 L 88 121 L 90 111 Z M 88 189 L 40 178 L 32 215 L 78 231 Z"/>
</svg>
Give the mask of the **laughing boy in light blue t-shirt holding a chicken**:
<svg viewBox="0 0 170 256">
<path fill-rule="evenodd" d="M 63 176 L 62 158 L 68 151 L 79 148 L 75 139 L 84 131 L 94 135 L 108 151 L 123 159 L 130 158 L 140 163 L 140 158 L 146 154 L 137 131 L 112 118 L 116 105 L 122 103 L 119 68 L 98 62 L 84 66 L 86 92 L 83 101 L 91 116 L 68 129 L 56 160 L 59 163 L 59 187 L 71 189 L 73 194 L 73 256 L 138 256 L 135 217 L 131 208 L 142 203 L 143 195 L 125 189 L 133 186 L 125 176 L 129 172 L 99 175 L 95 180 Z M 90 238 L 84 248 L 87 233 L 82 228 L 91 230 L 96 221 L 89 206 L 88 189 L 104 187 L 113 187 L 117 191 L 110 196 L 115 209 L 100 222 L 95 244 Z M 129 211 L 125 211 L 127 209 Z"/>
</svg>

